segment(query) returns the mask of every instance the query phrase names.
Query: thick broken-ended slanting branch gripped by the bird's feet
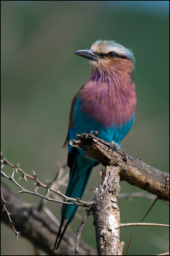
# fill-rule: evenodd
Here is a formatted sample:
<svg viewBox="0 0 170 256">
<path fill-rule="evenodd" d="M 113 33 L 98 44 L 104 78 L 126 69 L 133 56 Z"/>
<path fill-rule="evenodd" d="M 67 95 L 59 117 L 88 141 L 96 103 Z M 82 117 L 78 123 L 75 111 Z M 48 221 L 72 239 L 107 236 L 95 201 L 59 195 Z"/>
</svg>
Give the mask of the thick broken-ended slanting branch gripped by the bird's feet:
<svg viewBox="0 0 170 256">
<path fill-rule="evenodd" d="M 145 164 L 141 159 L 127 155 L 120 148 L 112 149 L 111 144 L 95 137 L 92 133 L 78 134 L 77 140 L 70 144 L 84 150 L 91 158 L 97 159 L 104 166 L 119 167 L 121 180 L 148 191 L 169 201 L 169 174 Z"/>
</svg>

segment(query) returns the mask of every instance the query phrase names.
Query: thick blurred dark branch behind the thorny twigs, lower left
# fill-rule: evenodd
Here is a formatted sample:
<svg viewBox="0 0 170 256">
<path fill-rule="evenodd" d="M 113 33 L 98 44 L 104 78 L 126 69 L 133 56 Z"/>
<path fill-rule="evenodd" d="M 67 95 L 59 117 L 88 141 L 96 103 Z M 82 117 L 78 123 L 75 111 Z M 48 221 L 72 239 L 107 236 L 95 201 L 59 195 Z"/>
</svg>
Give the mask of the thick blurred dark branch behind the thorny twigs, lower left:
<svg viewBox="0 0 170 256">
<path fill-rule="evenodd" d="M 72 255 L 76 235 L 69 231 L 65 232 L 58 250 L 52 250 L 58 233 L 58 226 L 42 211 L 27 203 L 16 193 L 1 182 L 3 197 L 7 203 L 7 210 L 12 213 L 12 221 L 19 235 L 30 240 L 35 246 L 46 251 L 49 255 Z M 1 211 L 3 202 L 1 200 Z M 1 220 L 9 226 L 9 218 L 6 211 L 1 213 Z M 67 244 L 67 246 L 65 246 Z M 82 255 L 97 255 L 96 251 L 86 243 L 80 241 L 79 249 Z"/>
</svg>

